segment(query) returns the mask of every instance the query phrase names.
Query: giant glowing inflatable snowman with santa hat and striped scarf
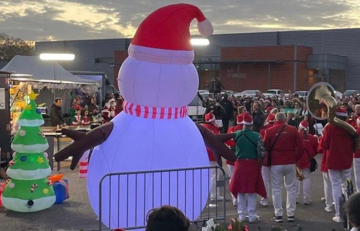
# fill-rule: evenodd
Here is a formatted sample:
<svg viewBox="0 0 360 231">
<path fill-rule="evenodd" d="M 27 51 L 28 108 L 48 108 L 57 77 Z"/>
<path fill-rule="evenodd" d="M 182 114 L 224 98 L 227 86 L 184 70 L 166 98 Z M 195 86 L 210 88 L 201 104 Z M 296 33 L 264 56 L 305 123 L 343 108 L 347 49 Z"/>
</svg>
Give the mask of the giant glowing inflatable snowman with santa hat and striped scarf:
<svg viewBox="0 0 360 231">
<path fill-rule="evenodd" d="M 123 111 L 110 125 L 97 129 L 97 134 L 87 134 L 93 136 L 90 140 L 64 131 L 77 146 L 60 151 L 57 160 L 86 150 L 91 140 L 101 140 L 92 153 L 87 179 L 97 215 L 99 182 L 106 174 L 209 166 L 204 132 L 187 115 L 187 105 L 199 85 L 189 33 L 194 18 L 203 36 L 212 34 L 211 23 L 195 6 L 176 4 L 151 13 L 140 24 L 119 71 Z M 196 220 L 208 198 L 207 179 L 207 170 L 105 177 L 100 198 L 102 222 L 110 228 L 143 225 L 148 211 L 164 204 L 174 205 Z"/>
</svg>

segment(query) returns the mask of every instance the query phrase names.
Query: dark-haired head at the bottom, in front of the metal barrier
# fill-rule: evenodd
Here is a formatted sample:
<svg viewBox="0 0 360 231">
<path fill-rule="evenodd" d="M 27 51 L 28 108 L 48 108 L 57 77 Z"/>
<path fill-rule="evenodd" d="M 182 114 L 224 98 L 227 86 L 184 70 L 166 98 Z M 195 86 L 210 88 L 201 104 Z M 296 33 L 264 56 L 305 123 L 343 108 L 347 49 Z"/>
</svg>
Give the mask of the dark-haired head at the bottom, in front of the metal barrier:
<svg viewBox="0 0 360 231">
<path fill-rule="evenodd" d="M 146 231 L 188 231 L 189 219 L 181 210 L 170 205 L 164 205 L 150 211 Z"/>
</svg>

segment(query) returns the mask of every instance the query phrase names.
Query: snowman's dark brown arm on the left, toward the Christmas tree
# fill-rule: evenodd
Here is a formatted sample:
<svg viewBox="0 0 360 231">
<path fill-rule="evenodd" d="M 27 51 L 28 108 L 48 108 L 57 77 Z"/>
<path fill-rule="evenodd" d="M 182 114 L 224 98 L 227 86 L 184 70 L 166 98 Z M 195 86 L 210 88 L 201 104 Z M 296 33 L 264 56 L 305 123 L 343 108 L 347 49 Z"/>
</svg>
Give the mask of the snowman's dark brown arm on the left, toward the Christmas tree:
<svg viewBox="0 0 360 231">
<path fill-rule="evenodd" d="M 88 149 L 102 144 L 107 139 L 107 137 L 110 136 L 113 128 L 114 124 L 112 122 L 109 122 L 82 134 L 80 134 L 79 131 L 62 129 L 61 132 L 67 137 L 73 139 L 74 142 L 57 152 L 55 154 L 55 160 L 63 161 L 69 157 L 73 157 L 70 169 L 74 170 L 84 152 Z"/>
</svg>

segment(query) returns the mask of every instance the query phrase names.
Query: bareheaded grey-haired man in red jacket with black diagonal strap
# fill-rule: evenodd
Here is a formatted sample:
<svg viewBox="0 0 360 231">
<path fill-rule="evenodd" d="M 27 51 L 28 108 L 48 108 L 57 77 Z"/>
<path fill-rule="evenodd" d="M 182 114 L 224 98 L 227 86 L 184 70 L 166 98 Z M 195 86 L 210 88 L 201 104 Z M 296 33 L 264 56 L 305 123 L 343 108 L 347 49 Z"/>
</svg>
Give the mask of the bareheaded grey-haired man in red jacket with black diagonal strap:
<svg viewBox="0 0 360 231">
<path fill-rule="evenodd" d="M 265 131 L 264 146 L 271 162 L 271 185 L 275 216 L 272 221 L 282 222 L 282 183 L 285 178 L 287 191 L 286 213 L 287 220 L 294 222 L 296 208 L 296 162 L 300 160 L 304 151 L 301 136 L 295 127 L 285 124 L 285 114 L 275 115 L 275 124 Z"/>
</svg>

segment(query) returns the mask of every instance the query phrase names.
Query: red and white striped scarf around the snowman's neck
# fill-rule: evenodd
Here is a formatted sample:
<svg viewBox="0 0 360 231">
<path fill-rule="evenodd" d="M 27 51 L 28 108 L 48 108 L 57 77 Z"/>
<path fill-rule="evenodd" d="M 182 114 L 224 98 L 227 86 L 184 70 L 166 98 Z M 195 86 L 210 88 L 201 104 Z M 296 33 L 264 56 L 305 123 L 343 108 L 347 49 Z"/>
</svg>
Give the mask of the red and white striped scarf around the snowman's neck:
<svg viewBox="0 0 360 231">
<path fill-rule="evenodd" d="M 136 105 L 128 101 L 124 101 L 123 112 L 134 115 L 136 117 L 146 119 L 180 119 L 185 118 L 188 114 L 188 106 L 183 107 L 148 107 Z"/>
</svg>

